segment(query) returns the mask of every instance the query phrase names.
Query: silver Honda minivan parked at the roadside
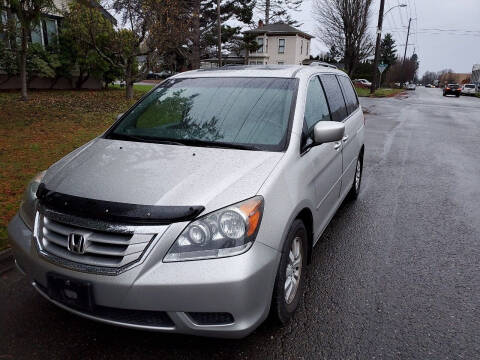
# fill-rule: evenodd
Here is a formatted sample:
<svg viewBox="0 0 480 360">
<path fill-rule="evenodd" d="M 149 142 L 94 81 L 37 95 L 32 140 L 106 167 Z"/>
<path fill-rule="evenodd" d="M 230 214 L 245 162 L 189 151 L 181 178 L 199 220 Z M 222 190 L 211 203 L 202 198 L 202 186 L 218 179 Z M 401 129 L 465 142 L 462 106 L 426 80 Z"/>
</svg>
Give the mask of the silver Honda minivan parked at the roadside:
<svg viewBox="0 0 480 360">
<path fill-rule="evenodd" d="M 315 243 L 359 193 L 363 154 L 342 71 L 185 72 L 38 174 L 8 235 L 33 287 L 72 313 L 243 337 L 292 317 Z"/>
</svg>

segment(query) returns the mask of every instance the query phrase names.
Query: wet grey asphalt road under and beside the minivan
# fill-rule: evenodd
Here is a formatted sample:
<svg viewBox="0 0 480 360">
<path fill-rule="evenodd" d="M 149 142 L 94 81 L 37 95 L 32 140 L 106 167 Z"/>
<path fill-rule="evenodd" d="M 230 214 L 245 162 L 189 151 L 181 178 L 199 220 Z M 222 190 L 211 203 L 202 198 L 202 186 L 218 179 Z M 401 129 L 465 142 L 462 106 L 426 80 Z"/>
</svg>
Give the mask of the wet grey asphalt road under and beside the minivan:
<svg viewBox="0 0 480 360">
<path fill-rule="evenodd" d="M 294 321 L 243 340 L 119 329 L 0 280 L 0 359 L 479 359 L 480 99 L 367 99 L 363 191 L 316 247 Z"/>
</svg>

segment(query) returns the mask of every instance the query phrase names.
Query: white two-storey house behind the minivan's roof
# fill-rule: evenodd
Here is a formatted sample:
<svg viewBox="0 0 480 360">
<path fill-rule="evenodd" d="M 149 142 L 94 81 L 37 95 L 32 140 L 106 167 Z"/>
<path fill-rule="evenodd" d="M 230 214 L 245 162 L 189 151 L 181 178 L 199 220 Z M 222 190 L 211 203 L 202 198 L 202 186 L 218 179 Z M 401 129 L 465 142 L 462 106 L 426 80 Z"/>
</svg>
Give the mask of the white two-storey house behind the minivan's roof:
<svg viewBox="0 0 480 360">
<path fill-rule="evenodd" d="M 259 48 L 249 53 L 249 65 L 290 64 L 301 65 L 310 57 L 310 41 L 314 37 L 284 23 L 264 25 L 245 34 L 256 35 Z"/>
</svg>

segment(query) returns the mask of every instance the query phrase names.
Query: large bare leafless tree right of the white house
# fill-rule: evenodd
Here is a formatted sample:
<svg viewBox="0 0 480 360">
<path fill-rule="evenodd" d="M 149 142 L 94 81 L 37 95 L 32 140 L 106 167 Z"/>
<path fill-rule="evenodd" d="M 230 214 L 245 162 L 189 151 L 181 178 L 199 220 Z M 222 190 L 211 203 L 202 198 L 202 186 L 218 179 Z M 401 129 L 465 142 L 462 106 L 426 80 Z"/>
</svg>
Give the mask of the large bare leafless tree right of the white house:
<svg viewBox="0 0 480 360">
<path fill-rule="evenodd" d="M 313 12 L 318 36 L 328 48 L 343 49 L 349 75 L 373 50 L 368 35 L 372 0 L 315 0 Z"/>
</svg>

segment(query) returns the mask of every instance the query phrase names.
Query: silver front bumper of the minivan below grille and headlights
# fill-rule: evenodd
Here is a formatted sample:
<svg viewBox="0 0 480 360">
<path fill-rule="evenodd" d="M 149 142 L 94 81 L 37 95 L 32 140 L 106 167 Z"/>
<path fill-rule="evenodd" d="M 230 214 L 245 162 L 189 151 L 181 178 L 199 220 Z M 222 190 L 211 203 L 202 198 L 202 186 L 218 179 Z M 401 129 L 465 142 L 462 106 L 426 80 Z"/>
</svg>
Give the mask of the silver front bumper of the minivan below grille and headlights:
<svg viewBox="0 0 480 360">
<path fill-rule="evenodd" d="M 239 256 L 176 263 L 147 258 L 119 275 L 98 275 L 67 269 L 40 257 L 32 232 L 18 215 L 8 226 L 8 236 L 17 266 L 56 305 L 105 323 L 193 335 L 239 338 L 251 333 L 268 315 L 280 261 L 277 250 L 256 241 Z M 168 243 L 162 240 L 147 257 L 160 258 L 155 251 L 163 251 L 162 243 Z M 102 311 L 80 311 L 51 299 L 49 273 L 91 283 L 95 308 Z M 233 322 L 201 325 L 189 313 L 227 313 Z M 160 321 L 162 314 L 169 321 Z M 160 320 L 155 323 L 157 318 Z"/>
</svg>

